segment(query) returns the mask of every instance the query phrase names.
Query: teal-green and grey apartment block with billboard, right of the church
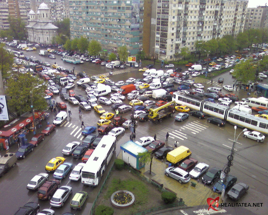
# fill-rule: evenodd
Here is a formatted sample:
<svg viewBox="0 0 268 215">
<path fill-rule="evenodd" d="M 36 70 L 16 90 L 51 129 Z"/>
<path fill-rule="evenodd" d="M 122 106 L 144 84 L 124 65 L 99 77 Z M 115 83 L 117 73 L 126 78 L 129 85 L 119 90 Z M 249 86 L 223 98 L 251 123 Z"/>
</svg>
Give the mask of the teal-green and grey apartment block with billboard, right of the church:
<svg viewBox="0 0 268 215">
<path fill-rule="evenodd" d="M 142 47 L 143 1 L 69 1 L 71 39 L 86 37 L 102 49 L 117 53 L 126 46 L 129 55 Z"/>
</svg>

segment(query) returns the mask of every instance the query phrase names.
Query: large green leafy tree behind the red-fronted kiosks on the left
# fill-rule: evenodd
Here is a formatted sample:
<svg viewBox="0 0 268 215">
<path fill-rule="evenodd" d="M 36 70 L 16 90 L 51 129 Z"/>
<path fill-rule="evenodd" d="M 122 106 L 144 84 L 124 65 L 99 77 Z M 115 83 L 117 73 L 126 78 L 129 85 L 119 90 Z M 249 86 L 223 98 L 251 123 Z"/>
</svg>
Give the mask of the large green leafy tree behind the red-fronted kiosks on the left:
<svg viewBox="0 0 268 215">
<path fill-rule="evenodd" d="M 20 114 L 31 111 L 31 90 L 42 83 L 44 83 L 42 80 L 28 73 L 20 74 L 17 79 L 9 79 L 7 81 L 7 95 L 10 97 L 7 101 L 9 108 Z M 42 111 L 47 109 L 47 102 L 46 99 L 44 99 L 44 90 L 46 90 L 46 85 L 34 89 L 34 110 Z"/>
</svg>

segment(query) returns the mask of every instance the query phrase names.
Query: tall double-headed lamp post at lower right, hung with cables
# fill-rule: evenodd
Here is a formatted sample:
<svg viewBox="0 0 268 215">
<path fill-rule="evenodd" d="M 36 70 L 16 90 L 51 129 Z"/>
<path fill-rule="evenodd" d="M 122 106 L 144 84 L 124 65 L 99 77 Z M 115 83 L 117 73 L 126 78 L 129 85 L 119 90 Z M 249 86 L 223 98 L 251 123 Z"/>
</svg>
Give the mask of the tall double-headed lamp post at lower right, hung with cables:
<svg viewBox="0 0 268 215">
<path fill-rule="evenodd" d="M 234 130 L 235 130 L 235 132 L 236 132 L 236 126 L 234 126 Z M 225 194 L 225 187 L 226 187 L 226 179 L 228 179 L 228 174 L 229 174 L 229 172 L 230 172 L 230 167 L 231 166 L 233 166 L 233 163 L 232 163 L 232 161 L 233 161 L 233 159 L 234 159 L 234 149 L 235 149 L 235 144 L 236 144 L 236 141 L 237 141 L 237 139 L 238 139 L 238 137 L 240 136 L 240 134 L 242 134 L 243 132 L 246 132 L 247 131 L 247 129 L 245 128 L 245 129 L 243 129 L 243 131 L 241 131 L 239 134 L 238 134 L 238 136 L 237 136 L 237 138 L 235 139 L 235 132 L 234 132 L 234 140 L 233 140 L 233 146 L 232 146 L 232 149 L 231 149 L 231 154 L 227 157 L 227 159 L 228 159 L 228 164 L 227 164 L 227 167 L 224 169 L 224 177 L 223 177 L 223 187 L 222 187 L 222 195 L 221 195 L 221 199 L 222 199 L 222 201 L 223 201 L 223 199 L 224 199 L 224 194 Z"/>
</svg>

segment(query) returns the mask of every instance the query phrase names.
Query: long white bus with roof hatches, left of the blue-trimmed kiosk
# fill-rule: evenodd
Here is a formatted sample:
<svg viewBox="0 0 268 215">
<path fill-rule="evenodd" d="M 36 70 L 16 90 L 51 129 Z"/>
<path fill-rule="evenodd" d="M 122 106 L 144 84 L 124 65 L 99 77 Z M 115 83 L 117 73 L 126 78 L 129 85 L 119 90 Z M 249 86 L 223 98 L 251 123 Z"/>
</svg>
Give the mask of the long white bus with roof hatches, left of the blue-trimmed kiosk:
<svg viewBox="0 0 268 215">
<path fill-rule="evenodd" d="M 104 171 L 115 152 L 116 137 L 105 135 L 82 168 L 83 184 L 98 186 Z"/>
</svg>

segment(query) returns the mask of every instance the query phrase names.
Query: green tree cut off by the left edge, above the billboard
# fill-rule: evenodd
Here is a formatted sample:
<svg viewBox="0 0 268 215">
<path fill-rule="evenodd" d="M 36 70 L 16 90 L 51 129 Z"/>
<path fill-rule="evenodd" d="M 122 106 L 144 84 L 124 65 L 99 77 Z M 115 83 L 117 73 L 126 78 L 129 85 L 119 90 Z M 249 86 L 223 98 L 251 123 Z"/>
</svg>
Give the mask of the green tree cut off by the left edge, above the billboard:
<svg viewBox="0 0 268 215">
<path fill-rule="evenodd" d="M 12 64 L 13 64 L 13 55 L 7 52 L 7 50 L 4 49 L 5 44 L 0 44 L 0 92 L 1 95 L 5 95 L 4 93 L 4 81 L 6 80 L 8 76 L 8 71 L 10 70 Z"/>
</svg>

